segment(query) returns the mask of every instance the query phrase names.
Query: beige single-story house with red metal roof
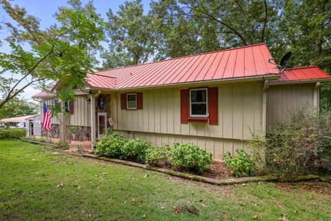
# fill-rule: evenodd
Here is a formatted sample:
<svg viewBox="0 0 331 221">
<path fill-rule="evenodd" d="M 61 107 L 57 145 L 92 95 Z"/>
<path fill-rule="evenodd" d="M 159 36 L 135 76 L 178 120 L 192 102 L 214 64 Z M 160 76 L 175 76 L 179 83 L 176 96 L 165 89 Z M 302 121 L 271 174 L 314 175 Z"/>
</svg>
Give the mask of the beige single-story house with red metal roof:
<svg viewBox="0 0 331 221">
<path fill-rule="evenodd" d="M 281 72 L 270 59 L 257 44 L 88 73 L 86 88 L 62 102 L 72 139 L 95 142 L 111 126 L 155 145 L 193 142 L 221 159 L 304 106 L 319 111 L 319 84 L 330 75 L 315 66 Z M 62 86 L 34 98 L 55 104 Z M 52 123 L 57 137 L 59 119 Z"/>
</svg>

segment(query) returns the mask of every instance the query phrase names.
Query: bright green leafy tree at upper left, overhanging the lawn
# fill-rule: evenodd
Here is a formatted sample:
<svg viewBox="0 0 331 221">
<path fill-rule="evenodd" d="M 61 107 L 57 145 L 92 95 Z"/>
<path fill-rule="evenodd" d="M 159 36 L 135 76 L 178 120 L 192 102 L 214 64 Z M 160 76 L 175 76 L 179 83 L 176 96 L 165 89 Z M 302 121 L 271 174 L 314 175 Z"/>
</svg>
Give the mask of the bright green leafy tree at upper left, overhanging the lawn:
<svg viewBox="0 0 331 221">
<path fill-rule="evenodd" d="M 7 0 L 0 3 L 14 21 L 6 23 L 12 51 L 0 52 L 0 108 L 28 86 L 45 90 L 47 81 L 61 80 L 67 87 L 60 90 L 59 98 L 72 99 L 72 88 L 83 85 L 86 71 L 93 70 L 95 50 L 103 39 L 103 21 L 92 3 L 82 6 L 79 0 L 71 0 L 69 8 L 61 7 L 54 15 L 59 24 L 46 30 L 24 8 Z"/>
</svg>

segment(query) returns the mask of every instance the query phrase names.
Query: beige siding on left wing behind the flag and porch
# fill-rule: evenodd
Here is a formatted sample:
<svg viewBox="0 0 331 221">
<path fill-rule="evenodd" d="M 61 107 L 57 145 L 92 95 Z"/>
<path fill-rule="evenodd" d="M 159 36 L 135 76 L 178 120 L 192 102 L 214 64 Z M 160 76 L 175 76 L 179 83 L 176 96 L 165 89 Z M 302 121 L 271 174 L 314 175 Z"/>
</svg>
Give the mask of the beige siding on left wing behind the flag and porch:
<svg viewBox="0 0 331 221">
<path fill-rule="evenodd" d="M 52 105 L 52 99 L 46 99 L 46 104 L 48 106 Z M 52 117 L 52 124 L 60 124 L 59 117 Z M 70 125 L 71 126 L 90 126 L 90 104 L 87 102 L 87 97 L 85 96 L 75 96 L 74 97 L 74 113 L 70 115 Z"/>
</svg>

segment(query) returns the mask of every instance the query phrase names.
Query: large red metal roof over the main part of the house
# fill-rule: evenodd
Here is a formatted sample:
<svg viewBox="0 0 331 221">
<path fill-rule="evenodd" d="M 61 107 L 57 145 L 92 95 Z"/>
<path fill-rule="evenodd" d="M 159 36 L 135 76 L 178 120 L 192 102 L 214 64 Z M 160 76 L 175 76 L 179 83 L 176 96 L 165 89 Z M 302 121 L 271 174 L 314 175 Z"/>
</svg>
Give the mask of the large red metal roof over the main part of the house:
<svg viewBox="0 0 331 221">
<path fill-rule="evenodd" d="M 98 76 L 116 77 L 116 88 L 163 86 L 199 81 L 278 75 L 265 44 L 189 55 L 148 64 L 101 70 Z M 95 75 L 94 75 L 95 76 Z M 98 85 L 97 77 L 90 84 Z"/>
</svg>

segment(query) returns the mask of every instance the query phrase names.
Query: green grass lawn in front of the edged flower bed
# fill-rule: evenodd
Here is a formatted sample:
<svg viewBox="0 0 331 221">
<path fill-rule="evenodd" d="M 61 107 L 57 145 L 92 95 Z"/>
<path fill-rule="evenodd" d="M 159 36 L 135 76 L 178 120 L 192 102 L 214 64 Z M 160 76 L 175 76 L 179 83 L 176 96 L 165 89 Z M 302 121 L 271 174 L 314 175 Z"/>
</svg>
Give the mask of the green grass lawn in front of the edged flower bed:
<svg viewBox="0 0 331 221">
<path fill-rule="evenodd" d="M 174 206 L 197 214 L 176 214 Z M 0 140 L 0 220 L 279 220 L 283 214 L 331 220 L 331 195 L 270 183 L 212 186 Z"/>
</svg>

